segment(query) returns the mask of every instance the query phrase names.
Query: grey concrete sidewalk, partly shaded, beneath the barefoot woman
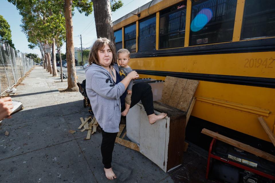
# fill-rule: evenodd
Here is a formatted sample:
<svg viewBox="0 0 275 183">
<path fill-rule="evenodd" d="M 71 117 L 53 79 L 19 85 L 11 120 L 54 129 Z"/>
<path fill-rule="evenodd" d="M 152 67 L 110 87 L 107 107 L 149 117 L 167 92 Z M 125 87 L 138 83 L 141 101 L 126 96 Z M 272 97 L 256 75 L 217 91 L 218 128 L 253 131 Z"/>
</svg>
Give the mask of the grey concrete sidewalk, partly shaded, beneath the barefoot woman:
<svg viewBox="0 0 275 183">
<path fill-rule="evenodd" d="M 117 179 L 107 180 L 101 133 L 84 140 L 87 131 L 77 129 L 79 118 L 89 115 L 82 95 L 60 93 L 58 88 L 65 89 L 67 81 L 54 81 L 60 78 L 37 66 L 22 81 L 25 85 L 17 86 L 12 98 L 25 109 L 0 125 L 0 182 L 213 182 L 205 180 L 207 160 L 192 145 L 184 154 L 183 165 L 164 173 L 141 153 L 115 144 L 112 166 Z"/>
</svg>

